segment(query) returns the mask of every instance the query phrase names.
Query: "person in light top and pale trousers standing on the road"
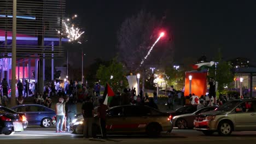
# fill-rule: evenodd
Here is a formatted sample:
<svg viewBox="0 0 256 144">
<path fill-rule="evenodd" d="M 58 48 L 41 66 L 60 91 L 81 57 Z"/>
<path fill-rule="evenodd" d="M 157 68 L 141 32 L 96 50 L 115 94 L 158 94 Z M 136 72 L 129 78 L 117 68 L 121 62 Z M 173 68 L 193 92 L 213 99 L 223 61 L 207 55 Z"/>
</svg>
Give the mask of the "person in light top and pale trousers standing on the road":
<svg viewBox="0 0 256 144">
<path fill-rule="evenodd" d="M 56 133 L 63 133 L 62 127 L 65 117 L 65 104 L 63 104 L 64 99 L 59 98 L 59 103 L 55 106 L 55 112 L 56 112 Z"/>
</svg>

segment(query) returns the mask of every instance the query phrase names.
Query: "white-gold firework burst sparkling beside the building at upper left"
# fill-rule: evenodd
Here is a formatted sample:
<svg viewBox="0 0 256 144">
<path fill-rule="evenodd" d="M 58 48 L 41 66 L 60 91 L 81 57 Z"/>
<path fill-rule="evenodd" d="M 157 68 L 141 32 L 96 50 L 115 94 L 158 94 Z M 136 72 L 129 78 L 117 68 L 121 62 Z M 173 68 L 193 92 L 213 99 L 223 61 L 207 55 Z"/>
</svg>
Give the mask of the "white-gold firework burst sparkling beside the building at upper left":
<svg viewBox="0 0 256 144">
<path fill-rule="evenodd" d="M 64 33 L 61 33 L 60 31 L 57 31 L 59 34 L 61 33 L 61 35 L 65 35 L 70 41 L 70 42 L 77 42 L 79 44 L 82 44 L 79 41 L 79 38 L 81 37 L 81 35 L 84 33 L 82 31 L 80 31 L 80 28 L 78 28 L 77 26 L 75 26 L 72 23 L 72 20 L 74 20 L 75 18 L 77 18 L 77 15 L 72 16 L 72 19 L 67 18 L 66 20 L 63 20 L 63 30 Z M 71 24 L 72 23 L 72 24 Z"/>
</svg>

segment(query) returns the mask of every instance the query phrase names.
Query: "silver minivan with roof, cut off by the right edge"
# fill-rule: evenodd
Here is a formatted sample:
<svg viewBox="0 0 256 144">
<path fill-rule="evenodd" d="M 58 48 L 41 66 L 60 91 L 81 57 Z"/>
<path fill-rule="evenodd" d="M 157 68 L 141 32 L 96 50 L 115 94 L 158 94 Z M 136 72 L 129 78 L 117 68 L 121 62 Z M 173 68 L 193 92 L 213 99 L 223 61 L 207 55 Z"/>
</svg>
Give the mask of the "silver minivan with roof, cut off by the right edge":
<svg viewBox="0 0 256 144">
<path fill-rule="evenodd" d="M 232 131 L 256 131 L 256 99 L 232 100 L 218 109 L 197 115 L 196 130 L 205 135 L 218 132 L 227 136 Z"/>
</svg>

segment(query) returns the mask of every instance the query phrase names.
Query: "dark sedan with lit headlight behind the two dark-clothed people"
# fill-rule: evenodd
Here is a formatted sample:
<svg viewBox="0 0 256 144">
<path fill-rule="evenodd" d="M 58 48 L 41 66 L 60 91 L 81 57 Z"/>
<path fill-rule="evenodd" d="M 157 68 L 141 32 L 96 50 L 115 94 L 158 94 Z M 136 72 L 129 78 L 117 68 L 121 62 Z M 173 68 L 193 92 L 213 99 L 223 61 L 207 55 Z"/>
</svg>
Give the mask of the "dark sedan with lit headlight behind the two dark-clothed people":
<svg viewBox="0 0 256 144">
<path fill-rule="evenodd" d="M 100 134 L 97 115 L 94 117 L 93 135 Z M 83 134 L 84 118 L 79 116 L 71 125 L 73 133 Z M 160 112 L 143 105 L 115 106 L 107 110 L 107 134 L 146 133 L 158 136 L 161 131 L 171 132 L 172 118 L 168 113 Z"/>
</svg>

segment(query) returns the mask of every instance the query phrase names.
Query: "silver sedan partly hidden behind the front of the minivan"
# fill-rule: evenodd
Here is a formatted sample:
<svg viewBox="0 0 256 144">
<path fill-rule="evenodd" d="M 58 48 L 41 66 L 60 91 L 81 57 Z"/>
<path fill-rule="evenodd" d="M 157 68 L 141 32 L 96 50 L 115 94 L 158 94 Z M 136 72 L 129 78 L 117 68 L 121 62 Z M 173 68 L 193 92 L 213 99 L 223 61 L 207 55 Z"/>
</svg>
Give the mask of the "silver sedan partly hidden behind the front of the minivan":
<svg viewBox="0 0 256 144">
<path fill-rule="evenodd" d="M 197 110 L 193 113 L 188 113 L 184 115 L 178 115 L 173 117 L 173 124 L 174 127 L 178 127 L 179 129 L 185 129 L 185 128 L 194 128 L 194 119 L 196 118 L 196 115 L 199 115 L 199 113 L 212 111 L 217 109 L 217 106 L 212 107 L 203 107 L 200 110 Z"/>
</svg>

